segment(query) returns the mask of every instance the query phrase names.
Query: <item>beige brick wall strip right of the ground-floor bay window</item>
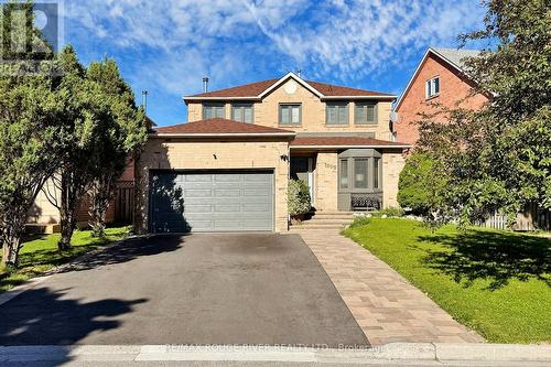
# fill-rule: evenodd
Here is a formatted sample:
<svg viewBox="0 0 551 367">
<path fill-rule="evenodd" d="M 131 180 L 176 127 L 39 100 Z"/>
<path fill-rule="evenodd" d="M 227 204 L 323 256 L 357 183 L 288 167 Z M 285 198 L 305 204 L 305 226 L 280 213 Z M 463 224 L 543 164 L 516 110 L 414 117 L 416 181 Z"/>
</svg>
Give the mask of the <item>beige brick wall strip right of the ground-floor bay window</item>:
<svg viewBox="0 0 551 367">
<path fill-rule="evenodd" d="M 382 206 L 396 207 L 398 204 L 398 182 L 406 164 L 401 150 L 382 152 Z"/>
</svg>

